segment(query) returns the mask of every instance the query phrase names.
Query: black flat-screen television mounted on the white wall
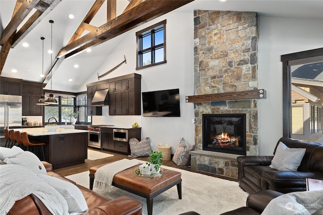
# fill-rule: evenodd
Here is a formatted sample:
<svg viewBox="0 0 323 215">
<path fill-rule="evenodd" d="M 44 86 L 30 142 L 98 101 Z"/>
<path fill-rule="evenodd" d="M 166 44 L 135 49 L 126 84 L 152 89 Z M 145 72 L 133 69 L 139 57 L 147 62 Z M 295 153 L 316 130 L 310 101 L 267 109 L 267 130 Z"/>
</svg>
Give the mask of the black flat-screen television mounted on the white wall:
<svg viewBox="0 0 323 215">
<path fill-rule="evenodd" d="M 180 90 L 160 90 L 142 93 L 143 116 L 181 116 Z"/>
</svg>

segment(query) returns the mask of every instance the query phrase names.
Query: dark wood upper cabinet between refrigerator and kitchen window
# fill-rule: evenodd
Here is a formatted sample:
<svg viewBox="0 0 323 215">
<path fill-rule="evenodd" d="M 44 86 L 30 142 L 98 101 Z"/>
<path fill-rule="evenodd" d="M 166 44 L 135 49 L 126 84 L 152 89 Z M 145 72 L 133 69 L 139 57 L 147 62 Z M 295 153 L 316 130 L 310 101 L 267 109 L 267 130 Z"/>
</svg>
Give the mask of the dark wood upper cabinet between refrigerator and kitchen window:
<svg viewBox="0 0 323 215">
<path fill-rule="evenodd" d="M 23 82 L 22 84 L 22 115 L 41 116 L 42 105 L 37 105 L 40 96 L 43 95 L 41 83 Z"/>
</svg>

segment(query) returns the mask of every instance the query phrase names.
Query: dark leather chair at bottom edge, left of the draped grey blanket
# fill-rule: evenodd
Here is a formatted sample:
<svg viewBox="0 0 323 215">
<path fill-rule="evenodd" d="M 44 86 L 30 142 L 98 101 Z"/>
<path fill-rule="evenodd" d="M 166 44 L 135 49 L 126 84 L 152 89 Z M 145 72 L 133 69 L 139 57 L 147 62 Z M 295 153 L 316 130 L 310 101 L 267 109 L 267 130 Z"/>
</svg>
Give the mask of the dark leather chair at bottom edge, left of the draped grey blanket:
<svg viewBox="0 0 323 215">
<path fill-rule="evenodd" d="M 247 197 L 245 207 L 239 207 L 221 215 L 259 215 L 273 198 L 280 195 L 283 195 L 283 193 L 274 190 L 262 190 L 252 193 Z M 323 208 L 316 210 L 312 215 L 323 215 Z"/>
</svg>

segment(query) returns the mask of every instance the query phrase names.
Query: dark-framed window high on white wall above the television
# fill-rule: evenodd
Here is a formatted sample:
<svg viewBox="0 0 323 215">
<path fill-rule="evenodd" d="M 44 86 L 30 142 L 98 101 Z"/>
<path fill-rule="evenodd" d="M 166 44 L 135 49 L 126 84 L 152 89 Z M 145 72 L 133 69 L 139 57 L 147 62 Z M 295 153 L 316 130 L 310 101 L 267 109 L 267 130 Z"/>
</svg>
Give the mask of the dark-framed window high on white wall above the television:
<svg viewBox="0 0 323 215">
<path fill-rule="evenodd" d="M 137 67 L 166 63 L 166 20 L 136 33 Z"/>
</svg>

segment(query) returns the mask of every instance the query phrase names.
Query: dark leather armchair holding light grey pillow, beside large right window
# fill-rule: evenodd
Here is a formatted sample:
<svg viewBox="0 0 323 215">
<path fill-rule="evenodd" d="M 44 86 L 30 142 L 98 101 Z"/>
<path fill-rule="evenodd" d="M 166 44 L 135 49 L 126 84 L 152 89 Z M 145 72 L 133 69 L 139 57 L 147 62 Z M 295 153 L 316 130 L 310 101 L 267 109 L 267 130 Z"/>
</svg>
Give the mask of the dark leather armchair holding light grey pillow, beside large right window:
<svg viewBox="0 0 323 215">
<path fill-rule="evenodd" d="M 238 162 L 238 181 L 248 193 L 276 190 L 282 193 L 305 191 L 306 178 L 323 179 L 323 144 L 282 137 L 278 140 L 289 148 L 305 148 L 297 171 L 278 171 L 269 167 L 274 156 L 241 156 Z"/>
</svg>

